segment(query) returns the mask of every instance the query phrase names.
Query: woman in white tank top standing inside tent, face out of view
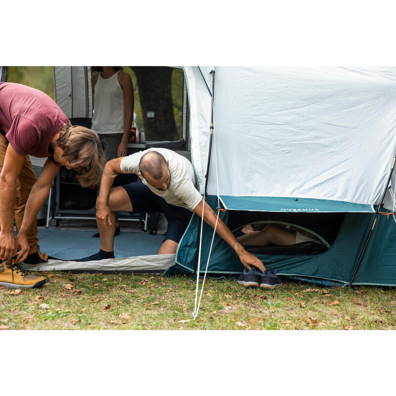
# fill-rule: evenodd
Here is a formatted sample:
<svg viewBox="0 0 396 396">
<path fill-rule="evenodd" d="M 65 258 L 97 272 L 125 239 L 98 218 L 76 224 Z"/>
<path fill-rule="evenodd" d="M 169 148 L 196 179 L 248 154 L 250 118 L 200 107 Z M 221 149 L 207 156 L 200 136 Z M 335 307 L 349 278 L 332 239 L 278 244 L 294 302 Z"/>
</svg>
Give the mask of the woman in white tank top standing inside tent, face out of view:
<svg viewBox="0 0 396 396">
<path fill-rule="evenodd" d="M 93 66 L 91 70 L 99 72 L 91 78 L 95 98 L 92 129 L 103 142 L 107 162 L 127 155 L 133 121 L 133 84 L 131 76 L 123 72 L 121 66 Z M 114 235 L 119 232 L 117 222 Z"/>
</svg>

